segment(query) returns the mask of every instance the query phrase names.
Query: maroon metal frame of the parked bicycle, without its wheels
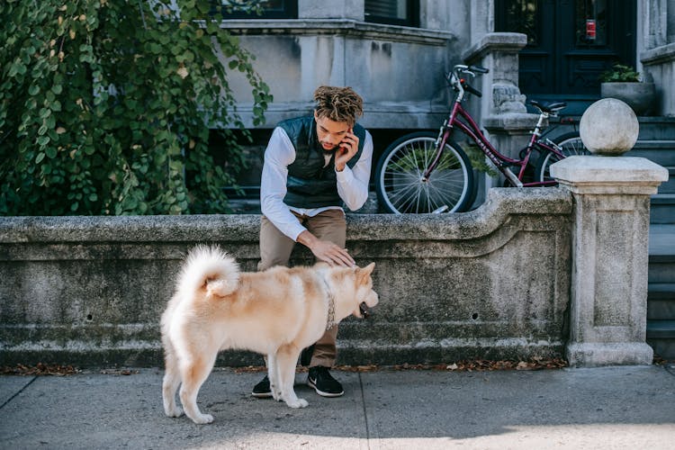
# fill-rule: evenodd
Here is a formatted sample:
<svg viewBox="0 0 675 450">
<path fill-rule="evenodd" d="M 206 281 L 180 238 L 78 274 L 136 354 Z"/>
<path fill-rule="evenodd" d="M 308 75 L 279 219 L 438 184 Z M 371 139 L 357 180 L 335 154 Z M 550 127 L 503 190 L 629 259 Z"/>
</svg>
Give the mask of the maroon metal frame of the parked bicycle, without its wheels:
<svg viewBox="0 0 675 450">
<path fill-rule="evenodd" d="M 438 132 L 438 138 L 436 140 L 437 153 L 434 157 L 434 160 L 427 167 L 424 174 L 422 175 L 423 181 L 428 180 L 429 175 L 436 168 L 438 161 L 440 161 L 441 155 L 443 154 L 443 149 L 446 148 L 446 142 L 450 139 L 455 128 L 462 131 L 468 138 L 472 139 L 473 142 L 481 148 L 482 152 L 488 157 L 492 164 L 497 167 L 497 169 L 504 176 L 509 179 L 509 182 L 515 186 L 545 186 L 555 184 L 554 181 L 544 181 L 544 182 L 532 182 L 532 183 L 523 183 L 523 176 L 525 175 L 527 163 L 529 162 L 532 151 L 535 148 L 539 148 L 540 151 L 550 151 L 559 157 L 564 157 L 563 154 L 555 148 L 555 144 L 550 140 L 543 141 L 541 139 L 541 130 L 544 128 L 544 120 L 549 117 L 549 114 L 546 112 L 541 112 L 539 115 L 539 120 L 536 123 L 535 130 L 532 131 L 532 135 L 527 144 L 527 147 L 521 152 L 522 159 L 514 159 L 507 157 L 501 154 L 494 146 L 491 144 L 485 135 L 480 130 L 476 121 L 473 120 L 473 117 L 469 112 L 464 109 L 462 106 L 462 100 L 464 97 L 464 90 L 461 90 L 453 103 L 453 109 L 450 112 L 450 115 L 446 121 L 441 126 Z M 461 119 L 460 119 L 461 118 Z M 518 166 L 518 175 L 514 174 L 509 166 Z"/>
</svg>

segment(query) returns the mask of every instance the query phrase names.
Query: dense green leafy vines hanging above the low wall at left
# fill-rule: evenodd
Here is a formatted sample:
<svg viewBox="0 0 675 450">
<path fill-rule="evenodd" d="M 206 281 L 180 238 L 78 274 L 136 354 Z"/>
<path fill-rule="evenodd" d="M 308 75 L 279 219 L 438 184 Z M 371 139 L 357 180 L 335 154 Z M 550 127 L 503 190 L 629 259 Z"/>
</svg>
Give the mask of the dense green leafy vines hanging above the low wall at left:
<svg viewBox="0 0 675 450">
<path fill-rule="evenodd" d="M 228 78 L 246 77 L 255 124 L 272 95 L 211 4 L 0 2 L 0 214 L 229 211 L 248 134 Z"/>
</svg>

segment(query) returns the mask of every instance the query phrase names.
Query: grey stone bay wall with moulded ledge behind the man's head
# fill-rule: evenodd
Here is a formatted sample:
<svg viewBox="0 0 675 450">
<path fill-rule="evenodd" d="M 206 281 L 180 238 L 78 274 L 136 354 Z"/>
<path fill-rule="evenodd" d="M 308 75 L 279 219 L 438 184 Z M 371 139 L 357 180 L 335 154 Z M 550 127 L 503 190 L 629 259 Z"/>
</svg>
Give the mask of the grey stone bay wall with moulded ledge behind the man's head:
<svg viewBox="0 0 675 450">
<path fill-rule="evenodd" d="M 448 100 L 444 75 L 459 53 L 450 31 L 343 18 L 226 21 L 221 26 L 256 56 L 254 67 L 274 95 L 266 124 L 259 128 L 310 113 L 319 85 L 354 87 L 365 101 L 359 122 L 369 129 L 437 128 L 443 121 Z M 246 78 L 232 73 L 229 85 L 238 112 L 254 128 Z"/>
</svg>

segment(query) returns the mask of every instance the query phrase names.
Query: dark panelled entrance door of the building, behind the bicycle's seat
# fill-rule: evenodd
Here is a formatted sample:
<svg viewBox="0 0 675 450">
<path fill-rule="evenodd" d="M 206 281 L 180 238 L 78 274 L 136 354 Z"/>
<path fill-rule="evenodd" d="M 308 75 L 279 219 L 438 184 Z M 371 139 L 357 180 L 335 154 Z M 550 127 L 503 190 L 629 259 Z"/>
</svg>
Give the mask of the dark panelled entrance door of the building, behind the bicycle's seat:
<svg viewBox="0 0 675 450">
<path fill-rule="evenodd" d="M 581 114 L 599 99 L 602 72 L 635 66 L 635 11 L 635 0 L 496 0 L 495 31 L 527 34 L 519 87 L 528 99 Z"/>
</svg>

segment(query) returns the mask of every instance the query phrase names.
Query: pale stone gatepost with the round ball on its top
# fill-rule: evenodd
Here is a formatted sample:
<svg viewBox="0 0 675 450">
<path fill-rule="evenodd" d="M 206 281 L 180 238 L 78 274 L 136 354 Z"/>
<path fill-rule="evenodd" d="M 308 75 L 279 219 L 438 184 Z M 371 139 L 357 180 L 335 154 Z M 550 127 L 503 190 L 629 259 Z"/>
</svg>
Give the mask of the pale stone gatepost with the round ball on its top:
<svg viewBox="0 0 675 450">
<path fill-rule="evenodd" d="M 638 130 L 635 113 L 616 99 L 593 103 L 581 117 L 581 139 L 596 155 L 627 151 Z M 574 202 L 570 365 L 652 364 L 645 342 L 649 202 L 668 171 L 644 157 L 575 156 L 551 174 Z"/>
</svg>

